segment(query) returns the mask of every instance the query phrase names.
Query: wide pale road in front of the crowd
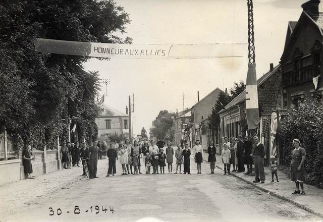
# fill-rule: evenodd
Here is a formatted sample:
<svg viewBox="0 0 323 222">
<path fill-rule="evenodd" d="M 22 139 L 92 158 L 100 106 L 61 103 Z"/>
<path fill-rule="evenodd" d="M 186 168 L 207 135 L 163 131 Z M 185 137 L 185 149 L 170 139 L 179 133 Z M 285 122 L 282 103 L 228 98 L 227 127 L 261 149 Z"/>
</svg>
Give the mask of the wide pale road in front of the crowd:
<svg viewBox="0 0 323 222">
<path fill-rule="evenodd" d="M 99 161 L 107 165 L 107 160 Z M 122 172 L 117 162 L 118 176 L 105 178 L 107 169 L 99 169 L 99 178 L 76 182 L 68 189 L 30 203 L 4 221 L 322 220 L 237 178 L 223 175 L 219 169 L 210 175 L 206 162 L 202 164 L 202 175 L 196 174 L 193 160 L 191 169 L 191 175 L 119 176 Z M 74 214 L 76 205 L 80 208 L 79 214 Z M 97 214 L 96 205 L 99 207 Z M 114 211 L 110 211 L 109 206 Z M 55 215 L 49 215 L 52 213 L 49 207 Z M 102 207 L 107 210 L 102 211 Z M 58 208 L 62 211 L 60 215 Z"/>
</svg>

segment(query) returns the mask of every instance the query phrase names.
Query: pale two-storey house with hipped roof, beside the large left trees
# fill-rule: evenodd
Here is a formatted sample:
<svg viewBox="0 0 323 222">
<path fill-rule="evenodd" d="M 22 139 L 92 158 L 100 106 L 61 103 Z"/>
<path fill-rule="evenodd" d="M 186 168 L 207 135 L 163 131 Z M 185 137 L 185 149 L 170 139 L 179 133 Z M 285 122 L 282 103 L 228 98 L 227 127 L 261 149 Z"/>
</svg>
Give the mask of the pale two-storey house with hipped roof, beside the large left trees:
<svg viewBox="0 0 323 222">
<path fill-rule="evenodd" d="M 104 104 L 103 112 L 95 119 L 98 128 L 98 137 L 112 134 L 123 134 L 129 137 L 129 116 Z"/>
</svg>

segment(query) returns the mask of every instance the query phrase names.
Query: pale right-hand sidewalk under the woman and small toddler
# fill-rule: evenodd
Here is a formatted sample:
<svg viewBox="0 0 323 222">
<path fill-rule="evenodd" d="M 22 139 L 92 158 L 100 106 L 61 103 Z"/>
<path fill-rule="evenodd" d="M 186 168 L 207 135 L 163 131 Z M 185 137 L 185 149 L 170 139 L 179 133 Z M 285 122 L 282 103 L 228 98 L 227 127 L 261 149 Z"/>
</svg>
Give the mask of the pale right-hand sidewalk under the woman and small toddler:
<svg viewBox="0 0 323 222">
<path fill-rule="evenodd" d="M 204 161 L 207 161 L 208 154 L 203 153 Z M 221 160 L 221 155 L 217 155 L 216 167 L 224 171 L 224 165 Z M 232 167 L 231 167 L 232 168 Z M 233 169 L 231 169 L 233 170 Z M 283 200 L 289 201 L 296 206 L 314 213 L 318 216 L 323 217 L 323 190 L 315 186 L 304 184 L 305 195 L 292 194 L 296 189 L 295 183 L 290 181 L 288 175 L 283 172 L 278 171 L 278 179 L 280 182 L 276 182 L 276 177 L 274 177 L 275 182 L 272 181 L 272 174 L 269 167 L 264 168 L 265 171 L 265 183 L 252 183 L 254 176 L 244 175 L 244 173 L 231 172 L 231 175 L 249 183 L 258 189 L 270 193 L 273 196 L 281 198 Z M 253 170 L 254 172 L 254 170 Z"/>
</svg>

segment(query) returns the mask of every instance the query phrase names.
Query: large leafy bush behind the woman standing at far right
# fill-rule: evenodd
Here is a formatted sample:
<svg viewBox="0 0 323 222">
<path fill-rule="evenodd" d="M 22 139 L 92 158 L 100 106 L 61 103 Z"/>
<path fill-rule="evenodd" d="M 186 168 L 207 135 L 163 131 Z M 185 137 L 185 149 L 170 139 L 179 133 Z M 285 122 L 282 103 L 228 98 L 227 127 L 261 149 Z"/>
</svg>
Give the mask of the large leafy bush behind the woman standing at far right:
<svg viewBox="0 0 323 222">
<path fill-rule="evenodd" d="M 283 161 L 291 162 L 292 141 L 298 138 L 306 150 L 306 182 L 323 187 L 323 101 L 321 98 L 306 100 L 298 108 L 288 111 L 281 128 Z"/>
</svg>

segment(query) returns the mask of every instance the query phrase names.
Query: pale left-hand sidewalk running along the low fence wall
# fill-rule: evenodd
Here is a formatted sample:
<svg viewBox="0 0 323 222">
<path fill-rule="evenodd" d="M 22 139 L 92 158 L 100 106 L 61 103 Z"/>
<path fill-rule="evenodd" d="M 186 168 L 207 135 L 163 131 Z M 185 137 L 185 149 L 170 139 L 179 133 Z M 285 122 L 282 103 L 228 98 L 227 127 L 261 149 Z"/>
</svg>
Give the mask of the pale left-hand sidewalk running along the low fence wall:
<svg viewBox="0 0 323 222">
<path fill-rule="evenodd" d="M 105 171 L 107 159 L 98 160 L 97 168 L 98 172 Z M 79 180 L 86 180 L 82 174 L 81 164 L 81 167 L 40 175 L 35 180 L 25 179 L 0 186 L 0 221 L 6 215 L 38 204 L 39 199 L 50 198 L 50 194 L 60 189 L 68 189 L 69 185 Z"/>
</svg>

